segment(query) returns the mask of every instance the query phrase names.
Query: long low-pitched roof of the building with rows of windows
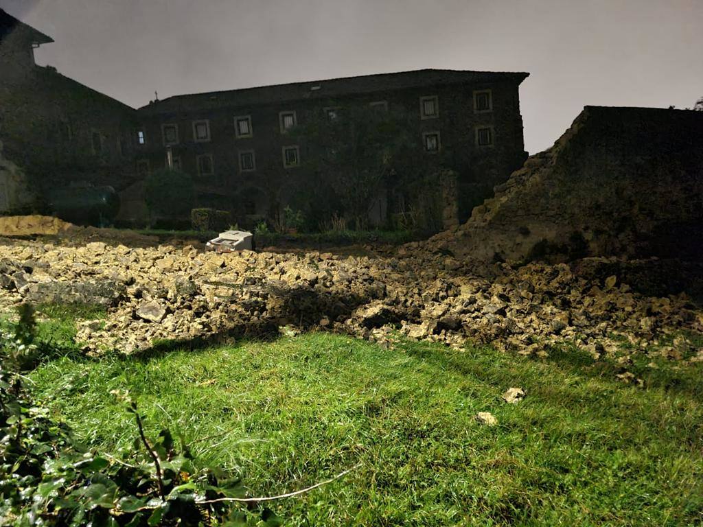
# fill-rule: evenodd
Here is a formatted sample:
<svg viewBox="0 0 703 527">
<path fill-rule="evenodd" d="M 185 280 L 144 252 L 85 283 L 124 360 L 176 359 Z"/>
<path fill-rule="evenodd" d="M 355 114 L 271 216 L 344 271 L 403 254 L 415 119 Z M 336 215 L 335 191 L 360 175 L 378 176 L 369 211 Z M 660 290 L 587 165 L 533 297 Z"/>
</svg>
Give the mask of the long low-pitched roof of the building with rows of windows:
<svg viewBox="0 0 703 527">
<path fill-rule="evenodd" d="M 146 113 L 161 113 L 193 110 L 194 108 L 218 108 L 222 105 L 249 106 L 292 100 L 325 100 L 339 96 L 363 95 L 440 84 L 481 82 L 514 82 L 515 84 L 520 84 L 528 76 L 529 73 L 524 72 L 415 70 L 177 95 L 157 100 L 140 108 L 140 110 Z"/>
</svg>

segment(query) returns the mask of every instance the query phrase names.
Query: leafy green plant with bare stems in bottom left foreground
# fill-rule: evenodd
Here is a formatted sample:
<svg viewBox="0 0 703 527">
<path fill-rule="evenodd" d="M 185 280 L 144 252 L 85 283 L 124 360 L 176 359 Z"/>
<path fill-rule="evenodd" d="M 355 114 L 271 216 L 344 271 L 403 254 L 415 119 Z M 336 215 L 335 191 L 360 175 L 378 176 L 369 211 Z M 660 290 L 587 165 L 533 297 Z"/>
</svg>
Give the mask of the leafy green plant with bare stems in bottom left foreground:
<svg viewBox="0 0 703 527">
<path fill-rule="evenodd" d="M 186 445 L 176 449 L 162 430 L 155 441 L 144 433 L 136 402 L 127 403 L 139 431 L 134 448 L 118 456 L 80 445 L 65 424 L 32 401 L 18 373 L 27 338 L 0 339 L 0 524 L 7 526 L 208 526 L 278 523 L 269 509 L 245 512 L 228 500 L 242 500 L 238 476 L 196 467 Z M 145 453 L 146 451 L 146 453 Z M 255 501 L 252 500 L 252 501 Z"/>
</svg>

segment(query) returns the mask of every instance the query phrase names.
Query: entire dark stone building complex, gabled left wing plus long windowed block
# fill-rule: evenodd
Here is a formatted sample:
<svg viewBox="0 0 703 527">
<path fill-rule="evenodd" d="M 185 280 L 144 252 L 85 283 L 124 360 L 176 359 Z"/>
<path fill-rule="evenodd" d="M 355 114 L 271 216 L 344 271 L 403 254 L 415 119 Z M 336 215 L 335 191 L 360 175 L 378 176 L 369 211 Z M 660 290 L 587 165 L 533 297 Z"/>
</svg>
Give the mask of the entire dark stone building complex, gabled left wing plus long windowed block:
<svg viewBox="0 0 703 527">
<path fill-rule="evenodd" d="M 173 96 L 134 110 L 35 65 L 34 48 L 51 41 L 0 10 L 0 139 L 39 204 L 56 188 L 110 185 L 122 197 L 119 219 L 146 223 L 143 181 L 171 166 L 193 176 L 197 206 L 243 225 L 286 206 L 348 216 L 341 172 L 318 163 L 335 149 L 309 131 L 359 109 L 399 119 L 409 138 L 363 198 L 371 223 L 420 209 L 434 226 L 463 221 L 527 157 L 518 95 L 527 73 L 418 70 Z M 27 201 L 4 190 L 18 186 L 6 179 L 5 212 Z"/>
</svg>

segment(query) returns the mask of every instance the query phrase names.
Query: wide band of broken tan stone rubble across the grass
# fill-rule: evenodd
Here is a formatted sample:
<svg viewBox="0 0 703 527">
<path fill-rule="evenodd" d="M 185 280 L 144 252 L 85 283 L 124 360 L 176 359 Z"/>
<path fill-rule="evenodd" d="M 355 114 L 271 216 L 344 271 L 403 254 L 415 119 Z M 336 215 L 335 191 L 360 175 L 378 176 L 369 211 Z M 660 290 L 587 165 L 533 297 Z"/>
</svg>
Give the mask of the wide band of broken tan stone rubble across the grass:
<svg viewBox="0 0 703 527">
<path fill-rule="evenodd" d="M 0 309 L 24 301 L 106 306 L 106 320 L 79 323 L 92 353 L 292 326 L 378 341 L 398 333 L 453 346 L 470 339 L 524 354 L 568 342 L 593 356 L 703 360 L 690 339 L 703 333 L 703 311 L 685 294 L 652 296 L 628 283 L 657 266 L 669 272 L 664 264 L 591 258 L 511 267 L 408 247 L 342 258 L 0 240 Z"/>
</svg>

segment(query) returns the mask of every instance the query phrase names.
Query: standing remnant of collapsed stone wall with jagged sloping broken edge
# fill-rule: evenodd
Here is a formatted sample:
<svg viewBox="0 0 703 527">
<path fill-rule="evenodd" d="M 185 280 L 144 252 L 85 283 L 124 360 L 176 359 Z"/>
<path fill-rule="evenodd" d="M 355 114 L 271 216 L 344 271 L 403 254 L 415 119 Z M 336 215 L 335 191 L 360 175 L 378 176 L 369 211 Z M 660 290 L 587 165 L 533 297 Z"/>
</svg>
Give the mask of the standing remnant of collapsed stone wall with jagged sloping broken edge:
<svg viewBox="0 0 703 527">
<path fill-rule="evenodd" d="M 491 260 L 703 259 L 703 114 L 587 106 L 428 245 Z"/>
</svg>

